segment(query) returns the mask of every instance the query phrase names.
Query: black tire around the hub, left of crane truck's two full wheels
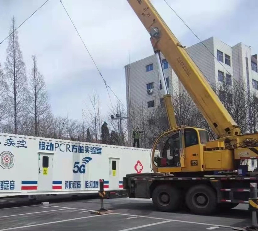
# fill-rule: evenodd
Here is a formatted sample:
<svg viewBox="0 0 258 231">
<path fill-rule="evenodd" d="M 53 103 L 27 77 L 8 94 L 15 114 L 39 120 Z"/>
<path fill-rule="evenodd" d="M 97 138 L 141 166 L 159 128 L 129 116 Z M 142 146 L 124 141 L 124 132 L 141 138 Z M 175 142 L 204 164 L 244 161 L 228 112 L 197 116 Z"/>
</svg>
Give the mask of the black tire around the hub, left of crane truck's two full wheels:
<svg viewBox="0 0 258 231">
<path fill-rule="evenodd" d="M 162 205 L 159 201 L 159 195 L 162 192 L 167 193 L 170 197 L 170 202 L 167 205 Z M 152 193 L 152 202 L 159 211 L 174 212 L 181 206 L 181 193 L 177 188 L 169 184 L 161 184 L 154 189 Z"/>
</svg>

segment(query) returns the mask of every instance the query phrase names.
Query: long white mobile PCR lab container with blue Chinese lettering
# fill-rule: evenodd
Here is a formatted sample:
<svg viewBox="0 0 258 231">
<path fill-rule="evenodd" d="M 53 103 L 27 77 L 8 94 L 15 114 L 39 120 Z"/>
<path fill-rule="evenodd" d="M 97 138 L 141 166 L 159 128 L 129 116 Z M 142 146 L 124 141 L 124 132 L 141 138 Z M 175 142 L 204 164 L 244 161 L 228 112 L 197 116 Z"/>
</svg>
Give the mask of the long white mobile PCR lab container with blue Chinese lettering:
<svg viewBox="0 0 258 231">
<path fill-rule="evenodd" d="M 149 149 L 0 133 L 0 197 L 122 189 L 123 176 L 150 172 Z"/>
</svg>

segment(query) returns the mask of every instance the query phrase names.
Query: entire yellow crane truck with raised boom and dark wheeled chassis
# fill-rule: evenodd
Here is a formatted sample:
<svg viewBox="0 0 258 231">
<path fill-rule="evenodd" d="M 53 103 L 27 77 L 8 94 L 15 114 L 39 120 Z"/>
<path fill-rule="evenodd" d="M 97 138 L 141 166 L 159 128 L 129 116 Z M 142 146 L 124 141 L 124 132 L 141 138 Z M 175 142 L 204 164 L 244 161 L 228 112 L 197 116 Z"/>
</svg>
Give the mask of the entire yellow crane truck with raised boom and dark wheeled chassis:
<svg viewBox="0 0 258 231">
<path fill-rule="evenodd" d="M 178 76 L 199 111 L 217 135 L 210 140 L 206 130 L 176 126 L 171 96 L 165 88 L 164 102 L 170 129 L 154 141 L 153 172 L 127 174 L 123 189 L 100 191 L 102 198 L 152 198 L 161 211 L 176 211 L 183 204 L 195 214 L 211 214 L 217 208 L 231 209 L 248 203 L 250 183 L 258 175 L 248 172 L 245 159 L 258 158 L 258 134 L 241 134 L 205 76 L 162 20 L 149 0 L 127 0 L 149 32 L 158 60 L 162 85 L 166 86 L 160 53 Z M 175 126 L 174 126 L 175 125 Z M 162 139 L 162 148 L 155 155 Z"/>
</svg>

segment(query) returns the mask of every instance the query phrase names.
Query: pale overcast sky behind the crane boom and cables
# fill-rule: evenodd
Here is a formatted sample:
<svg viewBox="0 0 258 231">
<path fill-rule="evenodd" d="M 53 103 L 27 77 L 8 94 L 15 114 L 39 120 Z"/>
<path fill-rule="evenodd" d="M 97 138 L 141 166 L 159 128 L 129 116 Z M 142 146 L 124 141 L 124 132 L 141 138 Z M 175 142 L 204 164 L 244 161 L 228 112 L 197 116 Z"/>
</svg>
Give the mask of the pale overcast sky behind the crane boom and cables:
<svg viewBox="0 0 258 231">
<path fill-rule="evenodd" d="M 0 41 L 9 33 L 11 17 L 17 26 L 45 0 L 0 0 Z M 153 54 L 149 34 L 126 0 L 62 0 L 84 43 L 109 86 L 126 105 L 124 66 Z M 204 40 L 215 36 L 230 46 L 243 42 L 258 53 L 257 0 L 167 0 L 190 28 Z M 163 0 L 152 3 L 186 47 L 198 42 Z M 88 95 L 100 94 L 103 115 L 110 108 L 105 85 L 76 34 L 59 0 L 49 0 L 18 29 L 27 73 L 31 55 L 38 56 L 55 115 L 81 120 Z M 0 45 L 6 60 L 8 41 Z M 116 98 L 111 93 L 113 104 Z"/>
</svg>

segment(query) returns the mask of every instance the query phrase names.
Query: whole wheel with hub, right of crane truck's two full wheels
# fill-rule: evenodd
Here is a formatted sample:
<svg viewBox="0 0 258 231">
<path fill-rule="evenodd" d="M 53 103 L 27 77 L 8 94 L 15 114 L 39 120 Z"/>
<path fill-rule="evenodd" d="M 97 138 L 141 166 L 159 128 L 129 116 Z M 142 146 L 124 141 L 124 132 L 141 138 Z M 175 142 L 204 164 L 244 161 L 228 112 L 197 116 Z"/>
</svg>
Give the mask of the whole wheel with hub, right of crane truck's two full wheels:
<svg viewBox="0 0 258 231">
<path fill-rule="evenodd" d="M 186 193 L 186 204 L 195 214 L 211 214 L 217 208 L 216 193 L 207 185 L 196 185 Z"/>
</svg>

